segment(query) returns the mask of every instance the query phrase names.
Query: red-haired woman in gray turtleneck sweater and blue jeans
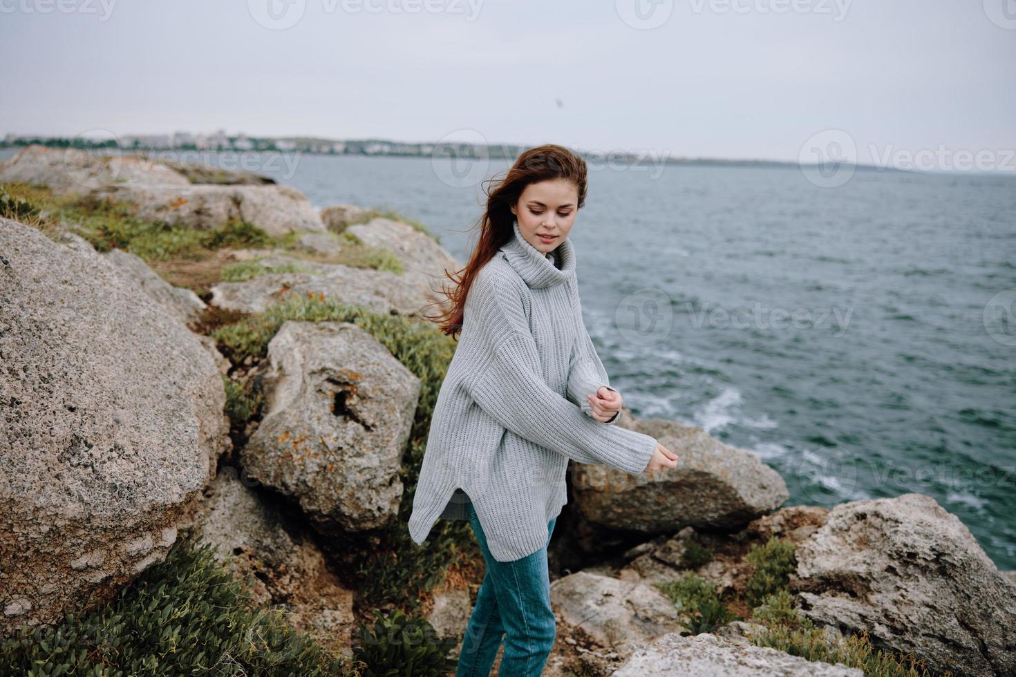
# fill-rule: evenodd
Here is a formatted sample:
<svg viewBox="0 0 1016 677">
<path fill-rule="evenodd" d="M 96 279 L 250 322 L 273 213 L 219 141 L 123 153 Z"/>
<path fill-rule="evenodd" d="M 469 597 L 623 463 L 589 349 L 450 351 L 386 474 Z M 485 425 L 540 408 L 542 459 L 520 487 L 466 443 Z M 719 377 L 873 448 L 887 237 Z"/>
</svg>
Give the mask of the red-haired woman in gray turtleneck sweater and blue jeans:
<svg viewBox="0 0 1016 677">
<path fill-rule="evenodd" d="M 610 387 L 582 322 L 568 233 L 585 202 L 586 164 L 559 145 L 531 148 L 488 193 L 446 334 L 461 336 L 438 394 L 409 533 L 468 520 L 487 564 L 457 675 L 539 675 L 554 645 L 547 546 L 567 502 L 568 460 L 638 475 L 676 468 L 649 435 L 613 425 Z"/>
</svg>

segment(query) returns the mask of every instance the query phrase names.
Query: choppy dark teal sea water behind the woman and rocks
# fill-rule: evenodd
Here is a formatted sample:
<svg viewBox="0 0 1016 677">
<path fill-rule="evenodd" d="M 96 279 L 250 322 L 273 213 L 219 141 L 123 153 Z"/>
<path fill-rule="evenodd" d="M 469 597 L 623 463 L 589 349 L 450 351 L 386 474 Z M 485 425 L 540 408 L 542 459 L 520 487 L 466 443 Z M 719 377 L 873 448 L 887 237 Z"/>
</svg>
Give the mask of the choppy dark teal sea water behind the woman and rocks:
<svg viewBox="0 0 1016 677">
<path fill-rule="evenodd" d="M 395 209 L 467 257 L 483 195 L 448 165 L 256 168 L 319 207 Z M 758 453 L 788 504 L 929 494 L 1016 568 L 1016 180 L 596 166 L 571 238 L 586 325 L 636 415 Z"/>
</svg>

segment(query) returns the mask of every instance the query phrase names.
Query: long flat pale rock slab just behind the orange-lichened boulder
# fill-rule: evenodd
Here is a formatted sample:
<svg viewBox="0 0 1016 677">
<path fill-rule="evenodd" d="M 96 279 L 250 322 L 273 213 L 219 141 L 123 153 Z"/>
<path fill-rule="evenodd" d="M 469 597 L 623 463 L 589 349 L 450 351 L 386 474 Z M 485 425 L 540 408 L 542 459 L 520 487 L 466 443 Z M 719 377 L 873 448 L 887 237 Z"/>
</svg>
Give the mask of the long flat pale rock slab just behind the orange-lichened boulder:
<svg viewBox="0 0 1016 677">
<path fill-rule="evenodd" d="M 417 316 L 427 304 L 425 291 L 410 277 L 384 270 L 353 268 L 341 264 L 301 261 L 285 256 L 261 260 L 266 267 L 292 262 L 307 273 L 269 273 L 243 282 L 219 282 L 211 287 L 216 308 L 244 313 L 261 313 L 287 293 L 322 295 L 343 303 L 363 306 L 375 313 Z"/>
</svg>

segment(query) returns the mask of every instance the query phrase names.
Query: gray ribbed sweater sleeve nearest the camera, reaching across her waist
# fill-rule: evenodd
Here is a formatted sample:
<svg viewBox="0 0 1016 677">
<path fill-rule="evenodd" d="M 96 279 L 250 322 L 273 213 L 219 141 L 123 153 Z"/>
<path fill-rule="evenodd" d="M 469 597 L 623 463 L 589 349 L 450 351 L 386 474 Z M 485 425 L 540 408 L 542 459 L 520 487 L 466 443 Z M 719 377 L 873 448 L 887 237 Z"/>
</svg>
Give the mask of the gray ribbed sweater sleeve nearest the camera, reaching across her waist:
<svg viewBox="0 0 1016 677">
<path fill-rule="evenodd" d="M 545 449 L 579 463 L 608 465 L 631 475 L 643 472 L 656 441 L 602 425 L 552 390 L 541 376 L 535 340 L 522 329 L 525 315 L 518 292 L 506 284 L 483 286 L 469 291 L 482 297 L 479 339 L 485 353 L 485 363 L 465 382 L 473 401 L 506 429 Z"/>
</svg>

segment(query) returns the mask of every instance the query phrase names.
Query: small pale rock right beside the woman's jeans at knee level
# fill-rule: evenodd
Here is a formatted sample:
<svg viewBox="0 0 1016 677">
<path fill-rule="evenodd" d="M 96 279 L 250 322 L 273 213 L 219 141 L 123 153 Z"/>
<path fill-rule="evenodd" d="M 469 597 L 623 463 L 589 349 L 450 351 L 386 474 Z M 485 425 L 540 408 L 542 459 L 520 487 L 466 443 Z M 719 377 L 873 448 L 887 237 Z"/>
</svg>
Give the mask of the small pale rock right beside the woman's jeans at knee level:
<svg viewBox="0 0 1016 677">
<path fill-rule="evenodd" d="M 553 582 L 551 603 L 564 622 L 620 651 L 678 627 L 677 609 L 655 588 L 587 571 Z"/>
</svg>

